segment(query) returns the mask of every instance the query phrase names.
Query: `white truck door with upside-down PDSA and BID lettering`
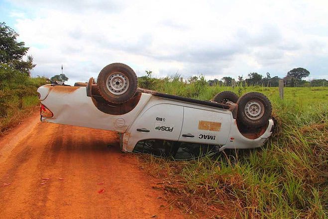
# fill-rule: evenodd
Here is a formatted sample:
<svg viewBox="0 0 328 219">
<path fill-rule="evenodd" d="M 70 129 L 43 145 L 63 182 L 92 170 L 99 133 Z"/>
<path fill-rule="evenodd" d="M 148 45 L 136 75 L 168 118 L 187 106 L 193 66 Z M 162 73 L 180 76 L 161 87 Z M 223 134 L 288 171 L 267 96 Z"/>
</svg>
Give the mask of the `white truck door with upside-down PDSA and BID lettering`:
<svg viewBox="0 0 328 219">
<path fill-rule="evenodd" d="M 127 150 L 143 139 L 177 141 L 183 121 L 183 107 L 172 104 L 158 104 L 147 109 L 129 128 Z"/>
</svg>

